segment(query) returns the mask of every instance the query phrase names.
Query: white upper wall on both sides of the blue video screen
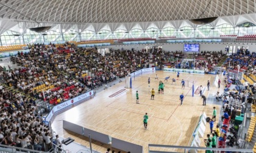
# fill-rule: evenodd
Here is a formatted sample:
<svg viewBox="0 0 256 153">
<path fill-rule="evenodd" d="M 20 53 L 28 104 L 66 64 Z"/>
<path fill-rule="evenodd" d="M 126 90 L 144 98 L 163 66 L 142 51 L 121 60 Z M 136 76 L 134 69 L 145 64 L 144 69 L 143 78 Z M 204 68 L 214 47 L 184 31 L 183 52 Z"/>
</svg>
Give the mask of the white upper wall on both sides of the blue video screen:
<svg viewBox="0 0 256 153">
<path fill-rule="evenodd" d="M 155 43 L 155 44 L 131 44 L 131 45 L 112 45 L 112 46 L 105 46 L 112 49 L 132 49 L 135 48 L 136 50 L 144 49 L 146 46 L 163 46 L 163 50 L 165 51 L 176 51 L 176 50 L 182 50 L 184 42 L 176 42 L 176 43 Z M 192 43 L 191 43 L 192 44 Z M 201 42 L 200 44 L 200 51 L 219 51 L 225 50 L 225 46 L 236 46 L 235 50 L 238 46 L 249 46 L 249 50 L 251 52 L 256 51 L 256 43 L 246 43 L 246 42 Z M 105 48 L 103 47 L 103 48 Z M 98 47 L 101 48 L 101 47 Z"/>
</svg>

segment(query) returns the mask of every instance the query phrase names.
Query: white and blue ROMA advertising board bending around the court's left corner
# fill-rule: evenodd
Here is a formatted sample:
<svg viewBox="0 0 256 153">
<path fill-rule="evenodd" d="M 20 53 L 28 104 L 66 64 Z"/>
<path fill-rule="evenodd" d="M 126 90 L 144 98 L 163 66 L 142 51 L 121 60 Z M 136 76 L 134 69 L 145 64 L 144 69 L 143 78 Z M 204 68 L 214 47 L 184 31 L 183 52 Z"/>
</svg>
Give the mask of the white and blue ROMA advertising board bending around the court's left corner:
<svg viewBox="0 0 256 153">
<path fill-rule="evenodd" d="M 93 90 L 91 90 L 90 92 L 87 92 L 85 94 L 79 95 L 75 98 L 72 98 L 71 100 L 65 101 L 61 104 L 58 104 L 57 106 L 54 106 L 52 108 L 51 112 L 49 112 L 49 114 L 45 118 L 45 120 L 50 121 L 55 112 L 62 110 L 65 107 L 70 106 L 71 104 L 77 103 L 77 101 L 84 100 L 85 98 L 90 97 L 91 95 L 93 95 Z"/>
</svg>

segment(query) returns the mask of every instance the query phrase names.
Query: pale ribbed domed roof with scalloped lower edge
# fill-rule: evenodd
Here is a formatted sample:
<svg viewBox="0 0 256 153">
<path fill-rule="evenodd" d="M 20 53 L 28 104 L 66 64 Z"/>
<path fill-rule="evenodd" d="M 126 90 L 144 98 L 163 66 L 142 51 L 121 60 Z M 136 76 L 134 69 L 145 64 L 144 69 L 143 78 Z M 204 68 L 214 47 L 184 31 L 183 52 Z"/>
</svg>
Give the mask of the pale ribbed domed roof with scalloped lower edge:
<svg viewBox="0 0 256 153">
<path fill-rule="evenodd" d="M 256 24 L 256 0 L 0 0 L 0 34 L 6 29 L 51 25 L 54 29 L 99 32 L 198 27 L 188 19 L 219 18 L 210 26 Z M 209 4 L 210 2 L 210 4 Z M 209 4 L 209 5 L 208 5 Z M 208 7 L 207 7 L 208 5 Z M 10 7 L 11 9 L 9 9 Z M 13 10 L 15 11 L 13 11 Z M 17 13 L 19 12 L 19 13 Z M 204 12 L 204 15 L 202 15 Z M 27 18 L 27 17 L 31 18 Z M 13 28 L 15 30 L 15 28 Z"/>
</svg>

